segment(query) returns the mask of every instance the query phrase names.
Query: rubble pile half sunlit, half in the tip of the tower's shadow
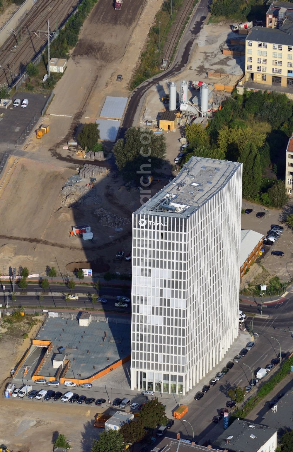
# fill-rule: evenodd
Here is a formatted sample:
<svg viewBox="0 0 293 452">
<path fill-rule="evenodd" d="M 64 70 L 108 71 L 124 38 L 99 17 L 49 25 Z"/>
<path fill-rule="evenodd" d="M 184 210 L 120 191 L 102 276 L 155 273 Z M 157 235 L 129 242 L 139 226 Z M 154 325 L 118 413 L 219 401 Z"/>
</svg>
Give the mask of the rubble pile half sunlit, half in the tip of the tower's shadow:
<svg viewBox="0 0 293 452">
<path fill-rule="evenodd" d="M 75 204 L 90 206 L 102 201 L 95 185 L 93 188 L 85 187 L 85 185 L 63 187 L 60 194 L 61 203 L 64 206 L 74 206 Z"/>
</svg>

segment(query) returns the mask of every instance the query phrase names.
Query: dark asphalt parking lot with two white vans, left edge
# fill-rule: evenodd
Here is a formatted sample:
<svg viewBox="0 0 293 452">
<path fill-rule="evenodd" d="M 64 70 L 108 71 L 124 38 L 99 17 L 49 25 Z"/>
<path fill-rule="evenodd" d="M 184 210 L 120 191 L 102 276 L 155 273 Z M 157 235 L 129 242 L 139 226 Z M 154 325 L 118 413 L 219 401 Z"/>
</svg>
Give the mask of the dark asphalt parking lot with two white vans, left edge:
<svg viewBox="0 0 293 452">
<path fill-rule="evenodd" d="M 47 94 L 15 93 L 12 104 L 7 110 L 0 109 L 0 113 L 4 114 L 0 120 L 0 143 L 16 144 L 29 125 L 28 133 L 30 133 L 40 118 L 48 97 Z M 21 102 L 23 99 L 28 99 L 28 106 L 26 108 L 22 108 L 20 105 L 13 107 L 15 99 L 20 99 Z"/>
</svg>

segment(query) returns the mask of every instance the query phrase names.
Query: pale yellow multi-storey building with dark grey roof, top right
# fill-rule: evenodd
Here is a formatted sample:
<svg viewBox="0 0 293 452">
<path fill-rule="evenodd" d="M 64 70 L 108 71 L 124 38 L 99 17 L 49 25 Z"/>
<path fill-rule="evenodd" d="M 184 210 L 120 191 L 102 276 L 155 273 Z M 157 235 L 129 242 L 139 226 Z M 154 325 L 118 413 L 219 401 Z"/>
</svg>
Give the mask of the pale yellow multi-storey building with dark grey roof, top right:
<svg viewBox="0 0 293 452">
<path fill-rule="evenodd" d="M 252 28 L 245 48 L 246 81 L 292 88 L 293 92 L 293 21 L 290 18 L 281 28 Z"/>
</svg>

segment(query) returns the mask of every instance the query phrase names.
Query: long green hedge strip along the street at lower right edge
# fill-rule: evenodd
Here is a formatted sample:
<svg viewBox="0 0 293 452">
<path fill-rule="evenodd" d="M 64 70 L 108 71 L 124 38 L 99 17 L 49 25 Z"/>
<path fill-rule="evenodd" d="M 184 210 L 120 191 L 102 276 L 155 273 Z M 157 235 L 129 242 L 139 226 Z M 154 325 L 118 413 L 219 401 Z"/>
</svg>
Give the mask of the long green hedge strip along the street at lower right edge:
<svg viewBox="0 0 293 452">
<path fill-rule="evenodd" d="M 266 395 L 268 395 L 279 383 L 282 381 L 288 373 L 291 372 L 291 366 L 293 366 L 293 356 L 290 356 L 283 364 L 279 371 L 272 377 L 269 381 L 264 383 L 257 395 L 251 397 L 250 400 L 246 402 L 244 407 L 241 410 L 236 410 L 233 413 L 233 418 L 245 418 L 248 413 L 260 402 L 260 400 L 264 399 Z"/>
</svg>

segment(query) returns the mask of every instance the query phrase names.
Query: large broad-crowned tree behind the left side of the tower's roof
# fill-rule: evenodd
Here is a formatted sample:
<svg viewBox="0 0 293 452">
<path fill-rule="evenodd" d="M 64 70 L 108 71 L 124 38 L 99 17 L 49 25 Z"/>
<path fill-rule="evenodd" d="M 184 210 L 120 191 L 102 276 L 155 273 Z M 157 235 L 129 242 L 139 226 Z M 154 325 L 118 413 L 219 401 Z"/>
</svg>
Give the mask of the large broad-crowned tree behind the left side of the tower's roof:
<svg viewBox="0 0 293 452">
<path fill-rule="evenodd" d="M 116 141 L 113 154 L 124 180 L 135 180 L 139 184 L 144 177 L 161 167 L 166 154 L 166 140 L 164 135 L 146 132 L 141 127 L 130 127 L 124 138 Z"/>
</svg>

